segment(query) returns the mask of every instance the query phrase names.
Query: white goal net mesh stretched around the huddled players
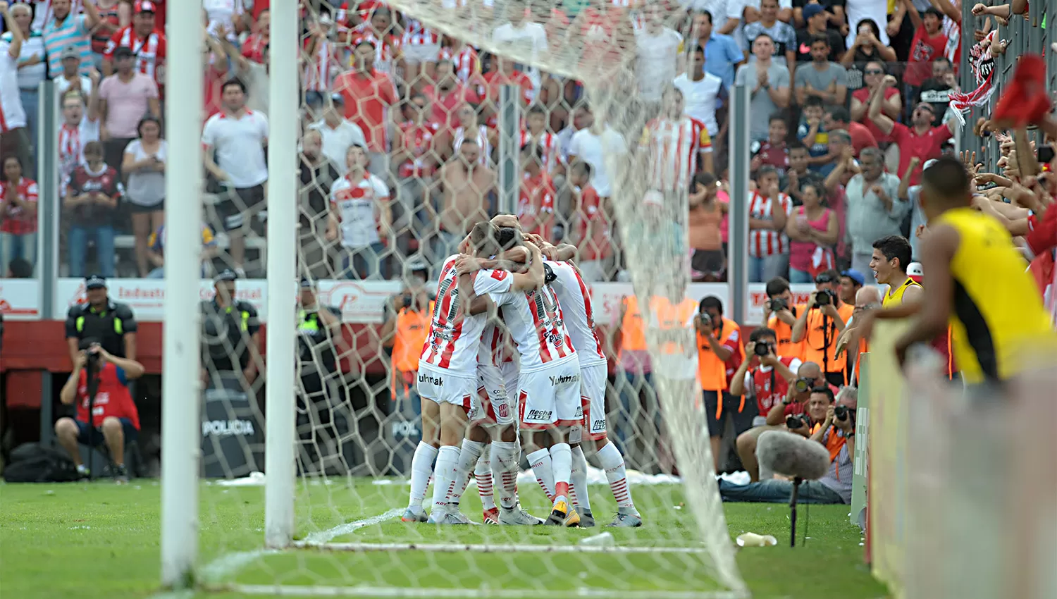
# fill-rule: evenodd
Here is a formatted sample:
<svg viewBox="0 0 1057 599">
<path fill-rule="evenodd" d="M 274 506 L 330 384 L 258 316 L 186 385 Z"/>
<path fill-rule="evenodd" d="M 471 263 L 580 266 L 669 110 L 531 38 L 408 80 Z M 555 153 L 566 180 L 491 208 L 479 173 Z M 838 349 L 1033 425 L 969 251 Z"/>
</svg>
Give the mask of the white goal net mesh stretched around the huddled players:
<svg viewBox="0 0 1057 599">
<path fill-rule="evenodd" d="M 697 37 L 692 20 L 667 2 L 303 4 L 298 481 L 291 488 L 299 548 L 245 551 L 260 546 L 263 526 L 256 472 L 264 471 L 266 381 L 254 333 L 258 320 L 290 321 L 246 308 L 262 298 L 252 297 L 253 281 L 242 274 L 266 276 L 263 218 L 254 214 L 242 227 L 244 256 L 222 249 L 212 260 L 215 272 L 240 269 L 235 297 L 246 303 L 203 308 L 203 473 L 211 482 L 202 519 L 205 557 L 216 560 L 202 580 L 253 593 L 744 596 L 696 378 L 696 333 L 673 316 L 690 281 L 689 181 L 675 167 L 665 171 L 680 151 L 674 141 L 649 143 L 664 110 L 679 101 L 667 90 L 686 67 L 682 40 Z M 233 65 L 259 82 L 253 62 L 263 59 L 264 44 L 253 35 L 240 41 L 247 61 Z M 357 67 L 365 60 L 372 69 Z M 589 284 L 623 284 L 623 295 L 643 306 L 652 366 L 646 375 L 616 369 L 607 389 L 609 438 L 624 454 L 641 528 L 604 526 L 616 502 L 586 435 L 596 528 L 401 521 L 422 434 L 415 372 L 401 344 L 416 338 L 415 313 L 428 316 L 444 258 L 499 211 L 504 85 L 520 88 L 517 146 L 538 146 L 551 185 L 543 201 L 519 167 L 522 228 L 576 245 Z M 214 97 L 219 109 L 223 93 Z M 539 116 L 542 130 L 531 130 Z M 576 136 L 580 129 L 591 135 Z M 574 185 L 576 160 L 592 166 L 600 202 Z M 218 230 L 230 228 L 221 205 L 247 213 L 254 202 L 223 186 L 215 199 L 206 218 Z M 615 357 L 620 310 L 596 312 L 611 321 L 602 339 Z M 522 466 L 521 504 L 545 518 L 550 502 L 523 458 Z M 470 478 L 460 505 L 470 520 L 481 522 L 490 485 L 490 474 Z M 233 505 L 242 514 L 235 522 Z"/>
</svg>

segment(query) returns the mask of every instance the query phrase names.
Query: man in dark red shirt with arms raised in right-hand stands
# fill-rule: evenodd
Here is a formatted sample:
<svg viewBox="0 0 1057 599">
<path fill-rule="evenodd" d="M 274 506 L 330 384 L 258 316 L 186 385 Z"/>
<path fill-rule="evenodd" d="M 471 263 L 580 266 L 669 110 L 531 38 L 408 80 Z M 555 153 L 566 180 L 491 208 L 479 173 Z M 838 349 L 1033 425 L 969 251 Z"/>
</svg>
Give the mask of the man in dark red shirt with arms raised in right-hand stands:
<svg viewBox="0 0 1057 599">
<path fill-rule="evenodd" d="M 886 75 L 882 85 L 894 87 L 895 77 Z M 938 158 L 943 153 L 943 144 L 950 139 L 957 127 L 957 120 L 951 117 L 944 125 L 932 126 L 935 115 L 932 112 L 932 105 L 919 102 L 910 116 L 911 126 L 907 127 L 902 123 L 895 123 L 887 114 L 882 112 L 882 94 L 877 93 L 870 99 L 870 119 L 880 129 L 885 135 L 890 135 L 893 144 L 900 148 L 900 168 L 897 172 L 904 172 L 910 165 L 910 160 L 916 157 L 922 163 Z M 921 170 L 914 169 L 910 175 L 911 185 L 916 185 L 921 181 Z"/>
</svg>

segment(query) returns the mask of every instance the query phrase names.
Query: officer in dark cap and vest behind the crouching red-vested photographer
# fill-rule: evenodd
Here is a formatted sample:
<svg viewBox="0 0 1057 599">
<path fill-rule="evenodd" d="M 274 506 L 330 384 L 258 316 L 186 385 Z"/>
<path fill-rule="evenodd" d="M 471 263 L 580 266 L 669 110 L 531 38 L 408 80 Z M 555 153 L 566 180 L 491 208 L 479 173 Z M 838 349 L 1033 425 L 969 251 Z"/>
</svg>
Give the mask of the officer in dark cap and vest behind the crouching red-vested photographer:
<svg viewBox="0 0 1057 599">
<path fill-rule="evenodd" d="M 67 314 L 67 347 L 70 361 L 76 363 L 82 339 L 98 339 L 107 353 L 119 358 L 135 359 L 135 316 L 127 304 L 113 301 L 107 295 L 107 280 L 98 275 L 85 278 L 88 303 L 77 304 Z"/>
</svg>

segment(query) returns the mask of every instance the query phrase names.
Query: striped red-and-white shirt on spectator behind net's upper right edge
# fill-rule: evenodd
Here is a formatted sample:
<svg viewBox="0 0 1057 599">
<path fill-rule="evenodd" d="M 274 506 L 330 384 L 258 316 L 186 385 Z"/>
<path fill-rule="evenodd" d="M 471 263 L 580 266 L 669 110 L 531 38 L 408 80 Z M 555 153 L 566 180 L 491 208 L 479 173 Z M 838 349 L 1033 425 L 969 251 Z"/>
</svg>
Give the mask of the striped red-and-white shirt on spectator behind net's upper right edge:
<svg viewBox="0 0 1057 599">
<path fill-rule="evenodd" d="M 650 154 L 650 189 L 687 189 L 698 170 L 698 153 L 712 151 L 708 127 L 690 116 L 655 118 L 643 130 L 641 146 Z"/>
</svg>

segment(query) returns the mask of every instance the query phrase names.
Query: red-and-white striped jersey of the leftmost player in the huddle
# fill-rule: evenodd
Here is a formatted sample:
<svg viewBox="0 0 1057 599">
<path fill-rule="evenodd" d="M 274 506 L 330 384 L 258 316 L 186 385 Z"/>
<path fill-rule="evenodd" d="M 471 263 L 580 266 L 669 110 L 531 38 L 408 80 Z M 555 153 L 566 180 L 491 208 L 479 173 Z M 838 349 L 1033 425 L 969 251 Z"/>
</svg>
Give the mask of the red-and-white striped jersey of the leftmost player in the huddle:
<svg viewBox="0 0 1057 599">
<path fill-rule="evenodd" d="M 421 362 L 467 376 L 477 372 L 478 347 L 488 322 L 487 314 L 468 315 L 459 297 L 459 273 L 456 258 L 449 256 L 437 284 L 437 301 L 429 322 L 429 333 L 422 348 Z M 514 276 L 505 270 L 478 270 L 474 274 L 474 293 L 483 296 L 509 291 Z M 523 295 L 523 294 L 521 294 Z"/>
</svg>

